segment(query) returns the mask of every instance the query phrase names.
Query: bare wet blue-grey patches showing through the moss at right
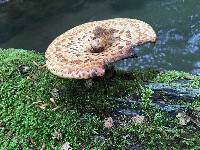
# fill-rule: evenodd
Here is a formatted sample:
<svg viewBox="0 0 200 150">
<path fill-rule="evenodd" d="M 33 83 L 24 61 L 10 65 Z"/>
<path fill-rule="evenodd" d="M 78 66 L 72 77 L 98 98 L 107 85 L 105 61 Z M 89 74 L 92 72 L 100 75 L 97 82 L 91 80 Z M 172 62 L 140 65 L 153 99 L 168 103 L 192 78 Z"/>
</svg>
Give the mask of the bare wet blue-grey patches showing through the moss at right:
<svg viewBox="0 0 200 150">
<path fill-rule="evenodd" d="M 191 103 L 194 99 L 200 98 L 200 89 L 190 87 L 192 80 L 179 80 L 171 83 L 147 83 L 146 88 L 154 91 L 152 95 L 151 106 L 159 108 L 173 115 L 178 112 L 186 110 L 187 106 L 184 103 Z M 139 96 L 131 96 L 127 98 L 114 98 L 119 104 L 116 113 L 135 116 L 141 115 L 140 110 L 135 110 L 131 106 L 141 105 L 141 98 Z M 183 103 L 179 103 L 182 101 Z"/>
</svg>

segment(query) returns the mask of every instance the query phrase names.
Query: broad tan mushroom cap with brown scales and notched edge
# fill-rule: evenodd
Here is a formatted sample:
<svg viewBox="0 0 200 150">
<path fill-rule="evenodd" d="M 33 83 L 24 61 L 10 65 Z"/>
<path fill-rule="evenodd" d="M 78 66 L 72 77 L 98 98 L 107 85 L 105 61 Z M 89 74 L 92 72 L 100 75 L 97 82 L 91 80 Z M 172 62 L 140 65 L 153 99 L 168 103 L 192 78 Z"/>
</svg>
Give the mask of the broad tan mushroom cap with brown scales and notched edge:
<svg viewBox="0 0 200 150">
<path fill-rule="evenodd" d="M 154 30 L 143 21 L 115 18 L 89 22 L 57 37 L 45 53 L 46 64 L 62 78 L 103 76 L 106 64 L 134 55 L 131 47 L 155 41 Z"/>
</svg>

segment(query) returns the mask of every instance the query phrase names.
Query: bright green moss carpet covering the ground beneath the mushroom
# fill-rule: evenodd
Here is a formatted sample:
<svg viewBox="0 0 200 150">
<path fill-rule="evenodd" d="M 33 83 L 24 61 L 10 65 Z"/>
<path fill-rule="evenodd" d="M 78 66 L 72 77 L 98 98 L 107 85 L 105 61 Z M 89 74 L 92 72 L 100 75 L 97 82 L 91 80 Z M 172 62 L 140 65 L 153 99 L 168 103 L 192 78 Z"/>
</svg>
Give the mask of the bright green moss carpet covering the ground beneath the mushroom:
<svg viewBox="0 0 200 150">
<path fill-rule="evenodd" d="M 0 148 L 60 149 L 69 142 L 73 149 L 200 149 L 198 124 L 181 125 L 178 118 L 151 105 L 153 91 L 144 82 L 167 82 L 200 78 L 183 72 L 153 70 L 117 71 L 112 77 L 94 80 L 60 79 L 43 67 L 44 57 L 32 51 L 0 49 Z M 142 123 L 131 116 L 116 115 L 114 98 L 141 97 Z M 199 100 L 188 104 L 199 119 Z M 118 123 L 104 127 L 105 118 Z"/>
</svg>

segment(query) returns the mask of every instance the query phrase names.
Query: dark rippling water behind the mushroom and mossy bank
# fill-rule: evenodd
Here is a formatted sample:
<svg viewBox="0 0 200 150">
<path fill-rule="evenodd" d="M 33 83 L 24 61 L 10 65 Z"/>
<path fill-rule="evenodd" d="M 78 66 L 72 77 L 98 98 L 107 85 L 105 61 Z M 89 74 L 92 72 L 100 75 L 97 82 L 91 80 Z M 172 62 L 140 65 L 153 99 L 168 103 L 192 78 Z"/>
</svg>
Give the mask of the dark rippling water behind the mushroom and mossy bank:
<svg viewBox="0 0 200 150">
<path fill-rule="evenodd" d="M 155 47 L 137 48 L 140 57 L 118 67 L 200 74 L 200 0 L 7 0 L 0 5 L 0 47 L 44 52 L 76 25 L 115 17 L 143 20 L 158 35 Z"/>
</svg>

